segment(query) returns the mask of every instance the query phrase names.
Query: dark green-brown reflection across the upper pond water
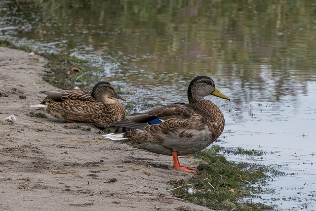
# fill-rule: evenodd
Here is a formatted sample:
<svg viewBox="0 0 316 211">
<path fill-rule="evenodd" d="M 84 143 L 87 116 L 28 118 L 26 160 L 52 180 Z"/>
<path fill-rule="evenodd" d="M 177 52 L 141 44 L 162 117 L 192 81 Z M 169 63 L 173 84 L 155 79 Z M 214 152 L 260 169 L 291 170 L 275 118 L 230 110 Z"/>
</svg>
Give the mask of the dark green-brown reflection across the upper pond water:
<svg viewBox="0 0 316 211">
<path fill-rule="evenodd" d="M 165 71 L 186 81 L 214 76 L 227 87 L 264 90 L 268 82 L 278 100 L 297 82 L 316 78 L 313 1 L 8 0 L 0 6 L 2 27 L 34 27 L 2 35 L 101 55 L 103 64 L 119 61 L 123 74 L 144 70 L 159 83 Z"/>
</svg>

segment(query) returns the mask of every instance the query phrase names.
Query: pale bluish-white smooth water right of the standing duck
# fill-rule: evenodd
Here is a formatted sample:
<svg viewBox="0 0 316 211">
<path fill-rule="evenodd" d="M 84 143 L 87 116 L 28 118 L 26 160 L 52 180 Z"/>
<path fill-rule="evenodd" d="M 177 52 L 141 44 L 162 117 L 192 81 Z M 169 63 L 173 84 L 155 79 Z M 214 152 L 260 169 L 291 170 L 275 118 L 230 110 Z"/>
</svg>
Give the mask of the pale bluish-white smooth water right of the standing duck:
<svg viewBox="0 0 316 211">
<path fill-rule="evenodd" d="M 316 93 L 316 83 L 307 84 Z M 315 209 L 316 204 L 316 100 L 313 94 L 291 97 L 282 102 L 243 103 L 240 112 L 226 114 L 225 147 L 243 147 L 267 152 L 260 157 L 227 155 L 234 161 L 263 163 L 281 167 L 285 176 L 274 178 L 262 195 L 266 203 L 278 204 L 283 210 Z M 243 116 L 243 118 L 240 118 Z M 260 199 L 259 201 L 261 201 Z"/>
</svg>

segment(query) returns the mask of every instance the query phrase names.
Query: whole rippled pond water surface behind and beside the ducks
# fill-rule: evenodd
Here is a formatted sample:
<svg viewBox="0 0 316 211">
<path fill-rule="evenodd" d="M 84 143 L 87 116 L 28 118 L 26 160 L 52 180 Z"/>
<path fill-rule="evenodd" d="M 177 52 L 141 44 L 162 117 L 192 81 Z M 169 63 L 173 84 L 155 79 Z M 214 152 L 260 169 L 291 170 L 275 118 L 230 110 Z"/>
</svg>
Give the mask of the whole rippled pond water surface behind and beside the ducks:
<svg viewBox="0 0 316 211">
<path fill-rule="evenodd" d="M 0 17 L 0 37 L 89 59 L 103 70 L 89 83 L 133 93 L 136 111 L 210 76 L 232 99 L 207 97 L 226 119 L 217 144 L 267 152 L 226 156 L 286 173 L 254 200 L 316 210 L 316 1 L 2 0 Z"/>
</svg>

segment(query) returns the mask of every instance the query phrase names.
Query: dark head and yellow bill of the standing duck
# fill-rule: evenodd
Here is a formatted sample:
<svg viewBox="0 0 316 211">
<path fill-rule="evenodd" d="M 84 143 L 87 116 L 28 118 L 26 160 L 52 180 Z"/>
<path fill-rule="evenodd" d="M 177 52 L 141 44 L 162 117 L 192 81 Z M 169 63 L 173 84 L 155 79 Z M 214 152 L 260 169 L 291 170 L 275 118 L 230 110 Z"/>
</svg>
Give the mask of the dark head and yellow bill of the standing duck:
<svg viewBox="0 0 316 211">
<path fill-rule="evenodd" d="M 208 76 L 195 77 L 188 88 L 189 102 L 198 101 L 207 95 L 214 95 L 226 100 L 231 100 L 228 96 L 221 93 L 214 84 L 214 81 Z"/>
</svg>

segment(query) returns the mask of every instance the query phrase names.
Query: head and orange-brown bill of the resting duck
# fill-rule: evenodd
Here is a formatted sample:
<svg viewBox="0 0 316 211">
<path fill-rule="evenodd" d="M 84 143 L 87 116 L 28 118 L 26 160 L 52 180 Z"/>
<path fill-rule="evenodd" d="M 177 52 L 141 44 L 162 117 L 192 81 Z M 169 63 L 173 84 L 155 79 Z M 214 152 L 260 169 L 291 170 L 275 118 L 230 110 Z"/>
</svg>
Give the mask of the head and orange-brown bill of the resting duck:
<svg viewBox="0 0 316 211">
<path fill-rule="evenodd" d="M 91 97 L 93 97 L 94 99 L 100 102 L 104 102 L 108 98 L 112 98 L 112 97 L 121 99 L 121 100 L 126 100 L 124 97 L 120 96 L 114 90 L 113 86 L 108 82 L 98 82 L 97 84 L 95 84 L 91 92 Z"/>
</svg>

